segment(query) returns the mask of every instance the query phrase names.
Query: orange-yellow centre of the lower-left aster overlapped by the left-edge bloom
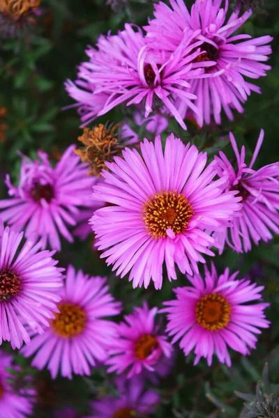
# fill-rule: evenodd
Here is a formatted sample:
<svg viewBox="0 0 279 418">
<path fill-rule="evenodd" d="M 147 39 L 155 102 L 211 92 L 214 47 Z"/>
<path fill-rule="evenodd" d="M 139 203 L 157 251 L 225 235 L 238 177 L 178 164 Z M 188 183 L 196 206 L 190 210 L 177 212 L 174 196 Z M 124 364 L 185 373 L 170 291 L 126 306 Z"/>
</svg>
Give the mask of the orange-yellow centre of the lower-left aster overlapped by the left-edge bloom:
<svg viewBox="0 0 279 418">
<path fill-rule="evenodd" d="M 58 309 L 60 314 L 51 321 L 52 330 L 63 338 L 81 334 L 86 325 L 84 309 L 70 302 L 61 302 Z"/>
</svg>

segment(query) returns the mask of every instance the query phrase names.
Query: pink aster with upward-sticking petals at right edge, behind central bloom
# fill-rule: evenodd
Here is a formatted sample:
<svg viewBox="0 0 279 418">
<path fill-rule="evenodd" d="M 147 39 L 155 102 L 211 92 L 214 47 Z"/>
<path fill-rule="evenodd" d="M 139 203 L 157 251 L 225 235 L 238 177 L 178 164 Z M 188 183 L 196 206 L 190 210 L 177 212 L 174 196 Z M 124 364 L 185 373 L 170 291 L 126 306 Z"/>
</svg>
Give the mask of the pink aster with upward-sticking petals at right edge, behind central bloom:
<svg viewBox="0 0 279 418">
<path fill-rule="evenodd" d="M 279 162 L 269 164 L 259 170 L 252 169 L 264 139 L 261 130 L 252 160 L 247 166 L 246 150 L 241 153 L 237 148 L 232 132 L 229 134 L 232 148 L 236 155 L 237 169 L 234 170 L 225 154 L 215 157 L 220 177 L 229 178 L 228 190 L 237 190 L 241 196 L 242 210 L 240 217 L 232 219 L 231 227 L 214 233 L 220 253 L 225 242 L 237 252 L 250 251 L 251 242 L 259 244 L 259 240 L 267 242 L 273 233 L 279 233 Z"/>
</svg>

